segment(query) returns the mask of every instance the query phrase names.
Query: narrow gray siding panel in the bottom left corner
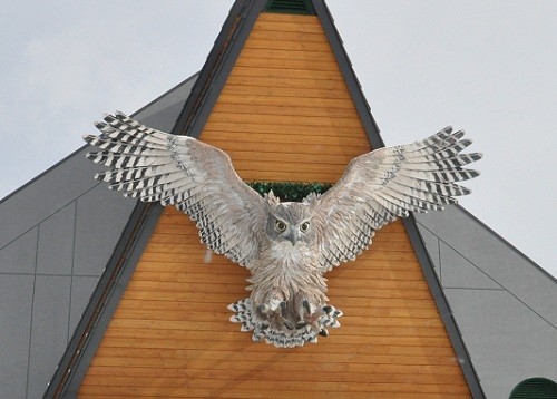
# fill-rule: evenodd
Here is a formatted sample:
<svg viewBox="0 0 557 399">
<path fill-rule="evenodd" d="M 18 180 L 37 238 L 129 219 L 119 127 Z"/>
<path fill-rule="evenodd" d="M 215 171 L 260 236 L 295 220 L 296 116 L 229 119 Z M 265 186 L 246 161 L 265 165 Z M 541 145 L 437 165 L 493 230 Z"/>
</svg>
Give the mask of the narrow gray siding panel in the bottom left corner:
<svg viewBox="0 0 557 399">
<path fill-rule="evenodd" d="M 33 275 L 0 274 L 0 398 L 26 397 Z"/>
</svg>

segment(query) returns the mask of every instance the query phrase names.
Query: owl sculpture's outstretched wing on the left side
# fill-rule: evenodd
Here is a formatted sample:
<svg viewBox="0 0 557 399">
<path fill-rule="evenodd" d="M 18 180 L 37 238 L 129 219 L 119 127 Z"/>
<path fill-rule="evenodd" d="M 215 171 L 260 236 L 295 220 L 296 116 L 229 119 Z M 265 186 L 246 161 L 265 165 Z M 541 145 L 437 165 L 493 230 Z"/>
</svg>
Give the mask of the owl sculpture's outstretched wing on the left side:
<svg viewBox="0 0 557 399">
<path fill-rule="evenodd" d="M 96 123 L 100 149 L 87 158 L 109 166 L 96 179 L 144 202 L 175 205 L 199 228 L 202 242 L 250 267 L 265 222 L 263 198 L 236 174 L 227 154 L 192 137 L 148 128 L 121 113 Z"/>
</svg>

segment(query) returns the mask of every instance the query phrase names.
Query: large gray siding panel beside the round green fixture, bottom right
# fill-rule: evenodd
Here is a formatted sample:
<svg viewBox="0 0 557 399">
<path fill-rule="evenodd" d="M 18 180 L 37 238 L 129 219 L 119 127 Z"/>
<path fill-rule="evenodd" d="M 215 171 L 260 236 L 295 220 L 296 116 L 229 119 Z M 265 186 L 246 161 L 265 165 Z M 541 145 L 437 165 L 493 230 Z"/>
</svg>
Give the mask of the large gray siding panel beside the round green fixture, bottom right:
<svg viewBox="0 0 557 399">
<path fill-rule="evenodd" d="M 522 380 L 557 381 L 557 331 L 506 291 L 446 290 L 488 398 Z M 554 302 L 555 304 L 555 302 Z"/>
</svg>

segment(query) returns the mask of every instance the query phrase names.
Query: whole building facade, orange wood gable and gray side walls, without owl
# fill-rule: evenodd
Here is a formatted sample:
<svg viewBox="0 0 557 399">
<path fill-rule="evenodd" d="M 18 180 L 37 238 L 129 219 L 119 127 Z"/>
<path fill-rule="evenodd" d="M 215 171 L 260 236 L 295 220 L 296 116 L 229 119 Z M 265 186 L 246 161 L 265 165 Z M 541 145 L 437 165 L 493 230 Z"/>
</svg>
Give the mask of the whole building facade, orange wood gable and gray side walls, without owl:
<svg viewBox="0 0 557 399">
<path fill-rule="evenodd" d="M 134 117 L 225 149 L 246 181 L 334 182 L 383 145 L 317 0 L 236 1 L 202 71 Z M 227 321 L 245 272 L 199 261 L 185 215 L 97 184 L 86 150 L 0 203 L 7 398 L 261 397 L 270 385 L 507 398 L 557 380 L 555 279 L 461 207 L 381 230 L 330 275 L 342 328 L 281 350 Z"/>
</svg>

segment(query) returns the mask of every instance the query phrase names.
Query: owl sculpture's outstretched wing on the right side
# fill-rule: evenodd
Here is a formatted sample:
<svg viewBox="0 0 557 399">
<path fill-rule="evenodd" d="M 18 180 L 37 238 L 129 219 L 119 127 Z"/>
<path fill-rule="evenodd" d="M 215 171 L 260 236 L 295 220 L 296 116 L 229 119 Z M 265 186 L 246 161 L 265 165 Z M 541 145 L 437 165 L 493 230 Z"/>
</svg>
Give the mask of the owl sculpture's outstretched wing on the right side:
<svg viewBox="0 0 557 399">
<path fill-rule="evenodd" d="M 379 148 L 354 158 L 324 194 L 316 211 L 323 271 L 354 260 L 371 244 L 375 230 L 410 212 L 442 210 L 470 191 L 455 182 L 479 172 L 462 168 L 481 154 L 460 154 L 472 142 L 447 127 L 409 145 Z"/>
</svg>

